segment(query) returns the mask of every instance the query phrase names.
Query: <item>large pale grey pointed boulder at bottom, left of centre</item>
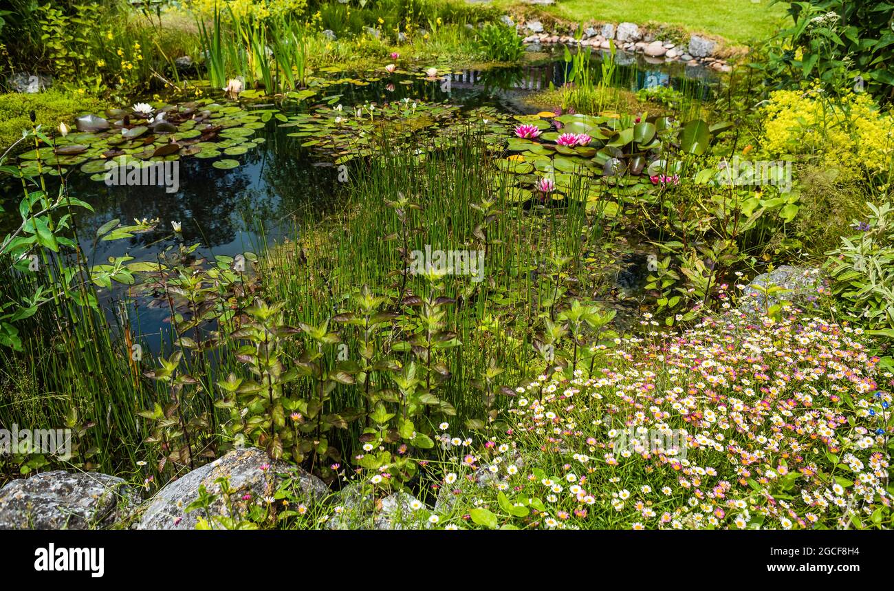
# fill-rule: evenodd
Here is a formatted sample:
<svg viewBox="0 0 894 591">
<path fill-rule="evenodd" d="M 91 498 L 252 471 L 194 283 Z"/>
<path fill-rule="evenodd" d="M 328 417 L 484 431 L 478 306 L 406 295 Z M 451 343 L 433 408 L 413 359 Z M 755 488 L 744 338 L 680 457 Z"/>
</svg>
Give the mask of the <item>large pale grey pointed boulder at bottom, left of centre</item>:
<svg viewBox="0 0 894 591">
<path fill-rule="evenodd" d="M 266 469 L 262 467 L 267 466 Z M 297 466 L 284 461 L 273 461 L 257 448 L 237 448 L 223 458 L 214 460 L 189 474 L 174 480 L 158 492 L 147 504 L 137 529 L 194 529 L 199 517 L 206 517 L 202 510 L 186 512 L 187 506 L 198 498 L 198 487 L 205 485 L 211 494 L 219 493 L 220 485 L 215 483 L 220 477 L 228 477 L 230 486 L 236 493 L 232 504 L 244 511 L 248 503 L 263 502 L 265 496 L 272 496 L 284 477 L 291 477 L 299 496 L 308 502 L 319 501 L 329 494 L 329 487 L 317 477 Z M 242 495 L 250 494 L 248 501 Z M 209 506 L 211 517 L 229 514 L 223 495 L 218 495 Z"/>
</svg>

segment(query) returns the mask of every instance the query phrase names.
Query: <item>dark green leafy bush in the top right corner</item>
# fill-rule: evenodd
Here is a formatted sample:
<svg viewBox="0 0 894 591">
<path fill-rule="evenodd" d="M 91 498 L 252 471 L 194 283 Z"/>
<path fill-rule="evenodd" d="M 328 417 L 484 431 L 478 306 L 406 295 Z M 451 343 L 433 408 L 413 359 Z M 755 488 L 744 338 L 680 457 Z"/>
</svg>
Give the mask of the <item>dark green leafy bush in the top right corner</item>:
<svg viewBox="0 0 894 591">
<path fill-rule="evenodd" d="M 787 86 L 819 78 L 828 89 L 850 88 L 856 76 L 894 98 L 894 4 L 875 0 L 789 2 L 793 24 L 773 40 L 768 72 Z"/>
</svg>

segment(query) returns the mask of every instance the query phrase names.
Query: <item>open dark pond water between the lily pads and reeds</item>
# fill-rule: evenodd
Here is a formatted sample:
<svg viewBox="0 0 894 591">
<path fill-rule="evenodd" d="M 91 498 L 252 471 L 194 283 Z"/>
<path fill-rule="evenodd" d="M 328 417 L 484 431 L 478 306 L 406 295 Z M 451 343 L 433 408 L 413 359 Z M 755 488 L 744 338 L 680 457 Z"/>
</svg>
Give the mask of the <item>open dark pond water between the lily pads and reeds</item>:
<svg viewBox="0 0 894 591">
<path fill-rule="evenodd" d="M 594 56 L 597 56 L 594 53 Z M 691 97 L 704 97 L 711 91 L 716 74 L 701 67 L 682 63 L 646 63 L 642 56 L 619 55 L 616 83 L 637 90 L 651 86 L 671 86 L 684 90 Z M 559 87 L 569 73 L 569 64 L 561 54 L 544 54 L 521 67 L 494 67 L 454 72 L 449 80 L 424 80 L 409 74 L 394 74 L 366 85 L 333 84 L 324 96 L 341 95 L 345 108 L 374 102 L 384 105 L 402 98 L 426 103 L 448 101 L 461 109 L 491 106 L 509 114 L 534 113 L 536 106 L 526 106 L 523 99 L 532 92 Z M 598 74 L 598 69 L 595 71 Z M 333 74 L 342 78 L 346 74 Z M 356 74 L 362 78 L 362 74 Z M 355 79 L 356 80 L 356 79 Z M 319 102 L 286 103 L 276 107 L 283 114 L 307 112 Z M 248 106 L 265 108 L 271 105 Z M 257 251 L 264 241 L 276 241 L 299 231 L 297 219 L 307 220 L 308 213 L 325 215 L 343 198 L 338 170 L 310 148 L 302 148 L 304 139 L 290 137 L 294 131 L 271 119 L 257 130 L 264 143 L 245 154 L 232 156 L 240 165 L 231 170 L 215 168 L 210 159 L 183 157 L 178 161 L 179 188 L 167 192 L 163 186 L 107 186 L 91 180 L 77 167 L 67 177 L 72 197 L 87 201 L 94 212 L 78 215 L 77 229 L 81 246 L 91 265 L 105 263 L 109 257 L 129 255 L 137 261 L 156 261 L 164 249 L 180 244 L 200 243 L 197 256 L 235 256 Z M 53 189 L 51 189 L 52 191 Z M 20 192 L 13 184 L 4 188 L 7 200 L 17 203 Z M 13 206 L 13 211 L 15 207 Z M 112 219 L 130 223 L 137 219 L 158 219 L 155 229 L 141 232 L 130 239 L 95 241 L 97 229 Z M 181 232 L 173 232 L 174 223 Z M 262 238 L 263 237 L 263 238 Z M 122 295 L 107 294 L 108 300 Z M 151 308 L 139 298 L 129 297 L 128 319 L 131 330 L 142 335 L 153 350 L 167 341 L 166 308 Z M 107 304 L 114 302 L 107 301 Z M 117 309 L 110 305 L 108 308 Z"/>
</svg>

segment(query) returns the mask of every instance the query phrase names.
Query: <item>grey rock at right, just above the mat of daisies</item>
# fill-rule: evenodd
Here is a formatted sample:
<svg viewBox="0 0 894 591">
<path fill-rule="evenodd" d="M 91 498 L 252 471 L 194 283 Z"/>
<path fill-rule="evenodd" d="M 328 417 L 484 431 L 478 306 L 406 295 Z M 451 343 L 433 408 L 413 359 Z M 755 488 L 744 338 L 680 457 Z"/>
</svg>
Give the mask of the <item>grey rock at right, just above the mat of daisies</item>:
<svg viewBox="0 0 894 591">
<path fill-rule="evenodd" d="M 778 285 L 787 291 L 766 296 L 755 287 L 768 289 Z M 822 269 L 783 265 L 770 273 L 757 275 L 743 290 L 738 309 L 748 315 L 762 315 L 767 308 L 782 301 L 790 301 L 797 308 L 814 308 L 820 289 L 827 291 L 829 283 L 822 275 Z"/>
</svg>

